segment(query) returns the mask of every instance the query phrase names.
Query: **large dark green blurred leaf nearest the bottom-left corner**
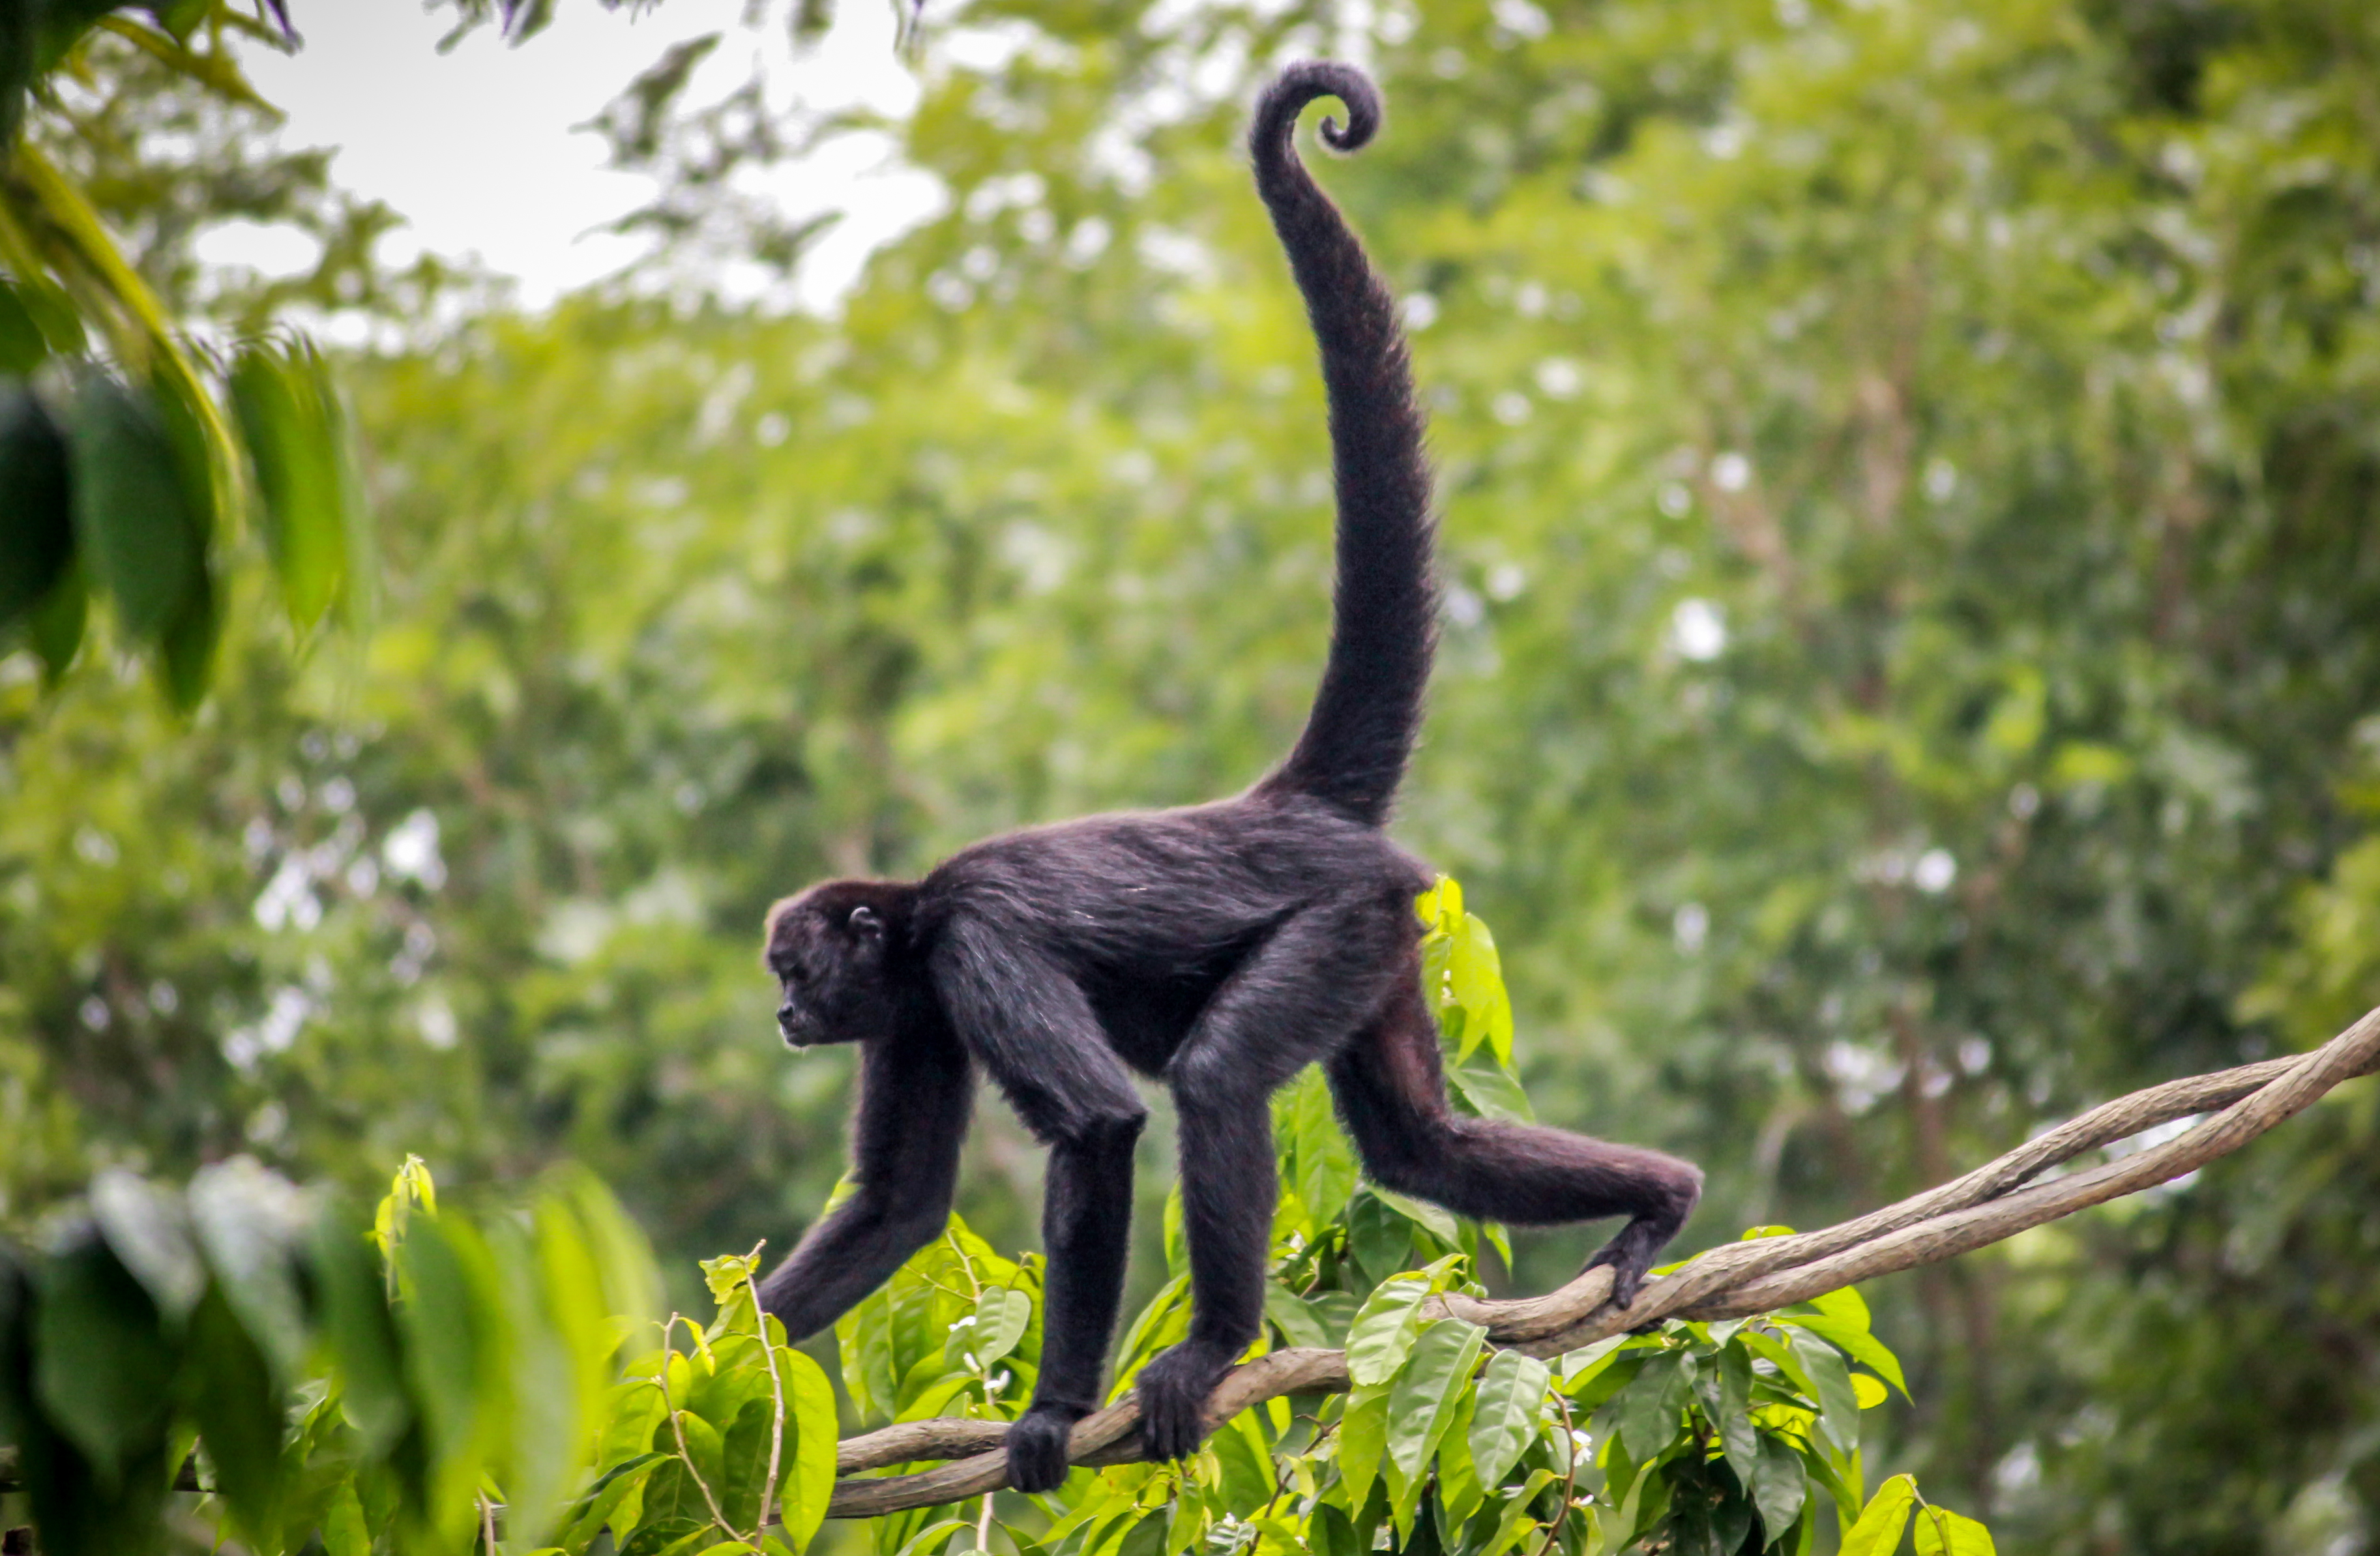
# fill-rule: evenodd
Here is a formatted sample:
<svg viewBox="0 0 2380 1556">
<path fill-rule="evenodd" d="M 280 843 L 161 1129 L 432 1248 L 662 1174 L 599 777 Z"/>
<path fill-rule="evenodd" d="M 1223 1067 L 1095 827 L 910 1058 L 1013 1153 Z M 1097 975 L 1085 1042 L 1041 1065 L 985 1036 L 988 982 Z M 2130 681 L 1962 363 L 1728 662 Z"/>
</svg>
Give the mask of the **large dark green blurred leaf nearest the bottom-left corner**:
<svg viewBox="0 0 2380 1556">
<path fill-rule="evenodd" d="M 45 1259 L 38 1280 L 33 1394 L 112 1489 L 131 1461 L 162 1454 L 174 1347 L 157 1304 L 95 1232 Z"/>
</svg>

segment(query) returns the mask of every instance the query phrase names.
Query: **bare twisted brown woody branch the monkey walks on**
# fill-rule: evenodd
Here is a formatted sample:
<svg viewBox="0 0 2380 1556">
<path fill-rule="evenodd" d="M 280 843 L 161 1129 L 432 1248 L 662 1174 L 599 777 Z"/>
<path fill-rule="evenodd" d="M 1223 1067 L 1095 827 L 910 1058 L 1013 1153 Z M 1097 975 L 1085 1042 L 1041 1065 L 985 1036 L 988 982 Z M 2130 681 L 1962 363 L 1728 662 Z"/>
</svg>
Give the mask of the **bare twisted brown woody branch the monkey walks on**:
<svg viewBox="0 0 2380 1556">
<path fill-rule="evenodd" d="M 2354 1075 L 2380 1071 L 2380 1009 L 2313 1049 L 2266 1059 L 2235 1071 L 2168 1080 L 2118 1097 L 2063 1125 L 2028 1140 L 1964 1178 L 1871 1211 L 1842 1225 L 1795 1237 L 1764 1237 L 1711 1249 L 1676 1275 L 1637 1292 L 1626 1311 L 1606 1306 L 1611 1270 L 1587 1270 L 1545 1297 L 1480 1301 L 1447 1294 L 1433 1299 L 1435 1316 L 1466 1318 L 1495 1344 L 1535 1356 L 1561 1351 L 1656 1318 L 1740 1318 L 1773 1313 L 1871 1275 L 1940 1263 L 2028 1228 L 2073 1216 L 2121 1194 L 2194 1173 L 2237 1152 L 2275 1123 L 2292 1118 L 2316 1097 Z M 2147 1128 L 2211 1113 L 2182 1135 L 2104 1166 L 2035 1182 L 2049 1168 Z M 1283 1394 L 1347 1389 L 1342 1351 L 1295 1349 L 1247 1361 L 1207 1401 L 1209 1425 Z M 1126 1463 L 1140 1456 L 1140 1406 L 1126 1397 L 1083 1418 L 1069 1439 L 1073 1463 Z M 995 1492 L 1009 1480 L 1000 1442 L 1007 1425 L 995 1420 L 909 1420 L 866 1432 L 843 1444 L 828 1518 L 873 1518 Z M 950 1458 L 933 1470 L 866 1477 L 876 1470 L 923 1458 Z"/>
</svg>

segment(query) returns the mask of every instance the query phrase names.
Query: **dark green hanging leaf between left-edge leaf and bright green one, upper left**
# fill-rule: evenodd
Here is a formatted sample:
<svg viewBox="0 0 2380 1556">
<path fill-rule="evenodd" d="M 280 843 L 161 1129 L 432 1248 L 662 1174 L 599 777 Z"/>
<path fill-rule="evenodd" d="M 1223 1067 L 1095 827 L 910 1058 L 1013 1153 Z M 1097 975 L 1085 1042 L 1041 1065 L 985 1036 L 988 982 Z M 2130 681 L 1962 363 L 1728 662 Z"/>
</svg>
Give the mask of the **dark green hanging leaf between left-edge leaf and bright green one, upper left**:
<svg viewBox="0 0 2380 1556">
<path fill-rule="evenodd" d="M 93 374 L 69 416 L 74 528 L 124 630 L 157 642 L 205 588 L 205 533 L 148 393 Z"/>
</svg>

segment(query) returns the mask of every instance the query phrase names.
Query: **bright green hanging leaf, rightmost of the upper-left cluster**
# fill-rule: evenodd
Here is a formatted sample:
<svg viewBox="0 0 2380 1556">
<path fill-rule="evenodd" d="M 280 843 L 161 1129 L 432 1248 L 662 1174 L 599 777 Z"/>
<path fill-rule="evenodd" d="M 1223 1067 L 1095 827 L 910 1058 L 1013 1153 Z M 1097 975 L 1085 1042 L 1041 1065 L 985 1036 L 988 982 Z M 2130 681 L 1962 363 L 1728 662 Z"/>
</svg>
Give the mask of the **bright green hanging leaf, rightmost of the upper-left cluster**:
<svg viewBox="0 0 2380 1556">
<path fill-rule="evenodd" d="M 357 561 L 355 473 L 331 374 L 312 345 L 252 343 L 231 364 L 231 409 L 257 471 L 281 600 L 298 630 L 312 630 Z"/>
</svg>

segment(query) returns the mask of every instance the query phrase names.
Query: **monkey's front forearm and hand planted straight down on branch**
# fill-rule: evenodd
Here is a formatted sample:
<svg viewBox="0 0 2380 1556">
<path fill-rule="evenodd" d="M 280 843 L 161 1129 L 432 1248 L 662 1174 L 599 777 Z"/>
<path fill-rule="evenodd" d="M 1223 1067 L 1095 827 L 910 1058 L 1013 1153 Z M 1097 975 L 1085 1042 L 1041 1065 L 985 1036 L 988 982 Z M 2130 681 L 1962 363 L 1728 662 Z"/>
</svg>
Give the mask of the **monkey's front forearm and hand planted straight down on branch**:
<svg viewBox="0 0 2380 1556">
<path fill-rule="evenodd" d="M 1066 1480 L 1066 1437 L 1100 1408 L 1100 1370 L 1123 1297 L 1133 1230 L 1133 1142 L 1140 1116 L 1092 1125 L 1050 1147 L 1042 1199 L 1042 1359 L 1033 1408 L 1009 1428 L 1009 1485 L 1052 1492 Z"/>
</svg>

